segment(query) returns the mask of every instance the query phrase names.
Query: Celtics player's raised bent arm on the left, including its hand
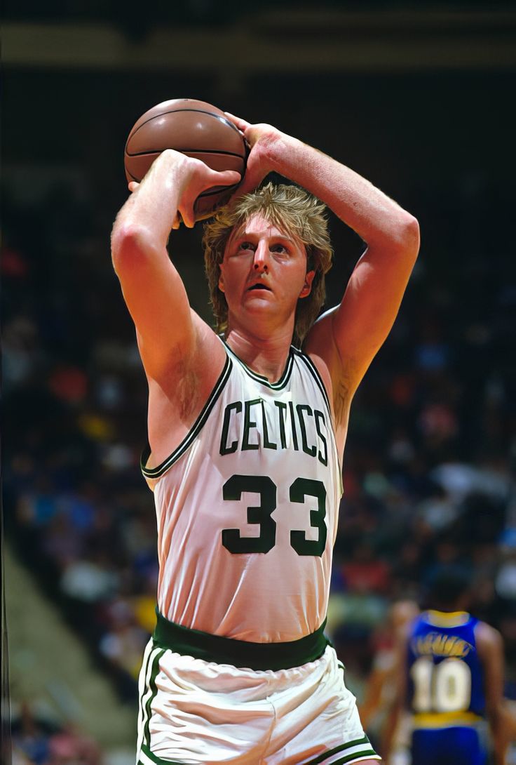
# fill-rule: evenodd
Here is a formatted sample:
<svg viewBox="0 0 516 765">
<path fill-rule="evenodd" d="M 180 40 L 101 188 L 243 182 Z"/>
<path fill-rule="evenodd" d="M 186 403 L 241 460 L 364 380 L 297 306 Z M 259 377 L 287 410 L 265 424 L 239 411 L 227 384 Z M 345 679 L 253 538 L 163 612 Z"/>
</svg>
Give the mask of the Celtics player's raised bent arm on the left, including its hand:
<svg viewBox="0 0 516 765">
<path fill-rule="evenodd" d="M 239 181 L 234 171 L 211 170 L 203 162 L 167 149 L 118 213 L 112 231 L 112 260 L 138 334 L 145 371 L 169 381 L 171 360 L 187 357 L 196 343 L 196 321 L 183 282 L 170 261 L 170 230 L 195 223 L 193 204 L 209 187 Z"/>
</svg>

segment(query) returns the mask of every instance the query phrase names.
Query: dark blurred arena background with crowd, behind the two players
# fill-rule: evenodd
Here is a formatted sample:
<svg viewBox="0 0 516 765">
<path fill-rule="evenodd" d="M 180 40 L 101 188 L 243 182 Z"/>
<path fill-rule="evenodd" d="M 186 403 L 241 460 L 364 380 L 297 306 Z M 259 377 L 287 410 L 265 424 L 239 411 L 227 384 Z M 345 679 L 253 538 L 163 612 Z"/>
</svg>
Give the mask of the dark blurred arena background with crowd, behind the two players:
<svg viewBox="0 0 516 765">
<path fill-rule="evenodd" d="M 147 390 L 110 262 L 125 138 L 203 99 L 315 145 L 420 220 L 398 321 L 352 406 L 329 624 L 363 704 L 392 605 L 471 572 L 516 701 L 512 2 L 4 0 L 3 506 L 16 763 L 129 765 L 153 627 Z M 334 217 L 328 305 L 362 243 Z M 174 233 L 209 321 L 202 226 Z M 372 710 L 381 731 L 388 699 Z M 375 706 L 375 705 L 373 705 Z M 516 754 L 511 754 L 516 762 Z"/>
</svg>

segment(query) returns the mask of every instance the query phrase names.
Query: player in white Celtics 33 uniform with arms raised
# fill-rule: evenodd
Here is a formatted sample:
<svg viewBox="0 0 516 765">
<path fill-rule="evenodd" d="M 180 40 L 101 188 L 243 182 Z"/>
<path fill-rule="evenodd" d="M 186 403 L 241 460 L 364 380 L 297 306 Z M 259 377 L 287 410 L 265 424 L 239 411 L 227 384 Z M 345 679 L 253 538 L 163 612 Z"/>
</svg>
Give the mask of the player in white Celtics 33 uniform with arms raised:
<svg viewBox="0 0 516 765">
<path fill-rule="evenodd" d="M 297 139 L 229 119 L 251 153 L 204 237 L 220 334 L 190 308 L 167 240 L 238 174 L 164 151 L 112 233 L 148 378 L 160 562 L 138 762 L 373 763 L 323 629 L 349 405 L 398 312 L 417 221 Z M 271 171 L 299 187 L 255 190 Z M 332 254 L 319 200 L 368 246 L 313 324 Z"/>
</svg>

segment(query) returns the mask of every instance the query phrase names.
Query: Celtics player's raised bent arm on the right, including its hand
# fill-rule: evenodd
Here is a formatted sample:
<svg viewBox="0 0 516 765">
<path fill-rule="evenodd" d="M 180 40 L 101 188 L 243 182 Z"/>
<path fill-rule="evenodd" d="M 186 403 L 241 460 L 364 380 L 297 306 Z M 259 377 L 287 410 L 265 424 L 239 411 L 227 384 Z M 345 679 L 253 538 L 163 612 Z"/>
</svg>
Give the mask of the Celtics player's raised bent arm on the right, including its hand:
<svg viewBox="0 0 516 765">
<path fill-rule="evenodd" d="M 271 125 L 232 118 L 252 152 L 240 192 L 271 171 L 303 186 L 367 243 L 337 308 L 315 324 L 305 343 L 328 365 L 337 420 L 391 330 L 419 249 L 419 226 L 381 190 L 320 151 Z"/>
</svg>

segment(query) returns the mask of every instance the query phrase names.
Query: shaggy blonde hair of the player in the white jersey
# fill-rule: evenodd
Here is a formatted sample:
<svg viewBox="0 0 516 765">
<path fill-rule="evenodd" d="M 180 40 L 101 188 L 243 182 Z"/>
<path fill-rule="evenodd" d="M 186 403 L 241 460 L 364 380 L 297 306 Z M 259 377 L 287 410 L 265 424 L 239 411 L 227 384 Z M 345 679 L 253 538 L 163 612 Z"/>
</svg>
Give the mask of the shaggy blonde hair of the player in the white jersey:
<svg viewBox="0 0 516 765">
<path fill-rule="evenodd" d="M 222 207 L 204 225 L 204 265 L 216 329 L 228 327 L 228 304 L 219 289 L 220 264 L 233 230 L 253 215 L 261 214 L 273 226 L 298 239 L 307 250 L 307 271 L 315 271 L 310 295 L 297 301 L 294 344 L 300 345 L 319 315 L 326 298 L 324 275 L 332 267 L 326 206 L 307 191 L 287 184 L 268 183 Z"/>
</svg>

